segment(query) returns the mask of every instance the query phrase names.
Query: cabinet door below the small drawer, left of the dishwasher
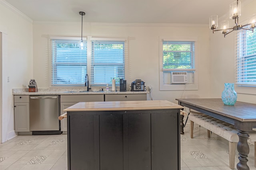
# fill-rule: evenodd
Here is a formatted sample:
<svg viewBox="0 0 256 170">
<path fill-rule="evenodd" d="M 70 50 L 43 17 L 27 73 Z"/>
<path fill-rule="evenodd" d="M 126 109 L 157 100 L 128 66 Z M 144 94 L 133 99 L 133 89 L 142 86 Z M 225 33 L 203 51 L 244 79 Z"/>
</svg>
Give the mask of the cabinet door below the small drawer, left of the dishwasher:
<svg viewBox="0 0 256 170">
<path fill-rule="evenodd" d="M 14 120 L 16 132 L 29 131 L 29 103 L 14 103 Z"/>
</svg>

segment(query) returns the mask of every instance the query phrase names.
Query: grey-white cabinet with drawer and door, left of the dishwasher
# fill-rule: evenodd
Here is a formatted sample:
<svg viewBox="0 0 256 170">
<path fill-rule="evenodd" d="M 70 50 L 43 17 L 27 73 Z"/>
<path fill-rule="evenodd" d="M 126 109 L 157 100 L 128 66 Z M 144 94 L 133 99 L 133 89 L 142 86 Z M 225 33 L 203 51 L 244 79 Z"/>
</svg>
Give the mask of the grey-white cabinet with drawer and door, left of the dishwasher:
<svg viewBox="0 0 256 170">
<path fill-rule="evenodd" d="M 16 132 L 29 131 L 29 96 L 14 96 L 14 121 Z"/>
</svg>

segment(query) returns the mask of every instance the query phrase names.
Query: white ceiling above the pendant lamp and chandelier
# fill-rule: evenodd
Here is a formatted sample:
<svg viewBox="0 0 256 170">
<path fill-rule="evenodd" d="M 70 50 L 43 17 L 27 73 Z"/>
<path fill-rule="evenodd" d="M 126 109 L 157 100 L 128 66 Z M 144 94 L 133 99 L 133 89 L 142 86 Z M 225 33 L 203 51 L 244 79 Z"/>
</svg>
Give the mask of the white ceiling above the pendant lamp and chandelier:
<svg viewBox="0 0 256 170">
<path fill-rule="evenodd" d="M 5 0 L 33 21 L 208 24 L 235 0 Z M 250 0 L 241 0 L 242 5 Z"/>
</svg>

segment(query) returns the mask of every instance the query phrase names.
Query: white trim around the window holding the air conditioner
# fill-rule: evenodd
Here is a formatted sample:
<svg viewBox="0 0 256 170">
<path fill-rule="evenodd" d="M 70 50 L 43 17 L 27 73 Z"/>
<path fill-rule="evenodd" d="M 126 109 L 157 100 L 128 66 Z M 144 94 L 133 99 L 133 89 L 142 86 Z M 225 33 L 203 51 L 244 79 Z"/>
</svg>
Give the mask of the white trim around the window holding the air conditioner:
<svg viewBox="0 0 256 170">
<path fill-rule="evenodd" d="M 163 84 L 163 41 L 194 41 L 194 69 L 170 69 L 170 71 L 194 71 L 193 84 Z M 159 90 L 198 90 L 198 37 L 159 37 Z M 169 70 L 169 69 L 168 69 Z"/>
</svg>

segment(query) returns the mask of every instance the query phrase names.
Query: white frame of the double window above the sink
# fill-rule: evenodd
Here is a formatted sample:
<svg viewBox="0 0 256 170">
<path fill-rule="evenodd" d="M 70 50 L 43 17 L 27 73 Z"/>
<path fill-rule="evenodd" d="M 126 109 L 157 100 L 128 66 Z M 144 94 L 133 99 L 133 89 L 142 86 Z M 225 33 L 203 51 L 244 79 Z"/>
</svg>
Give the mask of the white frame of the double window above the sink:
<svg viewBox="0 0 256 170">
<path fill-rule="evenodd" d="M 51 44 L 52 39 L 68 39 L 68 40 L 80 40 L 80 37 L 78 36 L 58 36 L 58 35 L 50 35 L 49 36 L 49 43 Z M 89 80 L 91 77 L 91 57 L 92 57 L 92 47 L 91 47 L 91 43 L 93 40 L 100 40 L 100 41 L 124 41 L 124 77 L 125 80 L 127 80 L 129 82 L 129 66 L 128 66 L 128 37 L 110 37 L 110 36 L 92 36 L 92 35 L 86 35 L 83 36 L 83 40 L 87 41 L 87 63 L 86 63 L 86 73 L 89 76 Z M 60 85 L 60 84 L 52 84 L 52 76 L 51 76 L 51 72 L 52 72 L 52 47 L 51 45 L 49 46 L 49 82 L 50 82 L 50 88 L 81 88 L 84 87 L 84 84 L 81 85 L 68 85 L 68 84 L 64 84 L 64 85 Z M 104 88 L 106 87 L 106 84 L 97 84 L 97 85 L 91 85 L 89 82 L 89 85 L 95 88 Z M 119 86 L 119 84 L 117 83 L 116 86 Z"/>
</svg>

